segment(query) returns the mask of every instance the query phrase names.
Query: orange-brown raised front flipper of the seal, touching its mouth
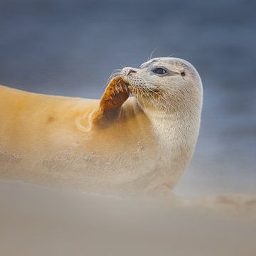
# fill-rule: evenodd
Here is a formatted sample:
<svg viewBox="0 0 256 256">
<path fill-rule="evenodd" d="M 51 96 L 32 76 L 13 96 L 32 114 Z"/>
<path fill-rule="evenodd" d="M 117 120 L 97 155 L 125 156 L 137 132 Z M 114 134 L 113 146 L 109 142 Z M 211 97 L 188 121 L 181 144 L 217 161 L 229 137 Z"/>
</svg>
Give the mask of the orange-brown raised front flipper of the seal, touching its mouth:
<svg viewBox="0 0 256 256">
<path fill-rule="evenodd" d="M 92 124 L 107 124 L 117 119 L 129 90 L 122 78 L 113 78 L 100 99 L 100 107 L 92 116 Z"/>
</svg>

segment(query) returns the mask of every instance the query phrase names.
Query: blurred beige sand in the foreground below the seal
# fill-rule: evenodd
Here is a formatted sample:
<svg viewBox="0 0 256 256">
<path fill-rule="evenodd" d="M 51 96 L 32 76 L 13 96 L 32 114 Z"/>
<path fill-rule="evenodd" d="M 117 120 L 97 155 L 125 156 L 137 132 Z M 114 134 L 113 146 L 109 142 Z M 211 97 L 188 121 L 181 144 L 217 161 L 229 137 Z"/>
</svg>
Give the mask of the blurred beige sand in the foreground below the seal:
<svg viewBox="0 0 256 256">
<path fill-rule="evenodd" d="M 256 255 L 256 196 L 142 200 L 0 182 L 0 255 Z"/>
</svg>

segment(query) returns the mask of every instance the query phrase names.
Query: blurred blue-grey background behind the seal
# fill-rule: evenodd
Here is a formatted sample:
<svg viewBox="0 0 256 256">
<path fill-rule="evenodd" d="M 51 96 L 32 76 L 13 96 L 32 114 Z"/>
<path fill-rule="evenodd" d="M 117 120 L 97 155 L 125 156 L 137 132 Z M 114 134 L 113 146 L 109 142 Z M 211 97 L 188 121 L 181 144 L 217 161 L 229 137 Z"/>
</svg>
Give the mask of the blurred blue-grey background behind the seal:
<svg viewBox="0 0 256 256">
<path fill-rule="evenodd" d="M 1 0 L 0 84 L 100 98 L 114 69 L 156 47 L 153 57 L 184 58 L 201 74 L 204 105 L 176 193 L 256 193 L 255 3 Z"/>
</svg>

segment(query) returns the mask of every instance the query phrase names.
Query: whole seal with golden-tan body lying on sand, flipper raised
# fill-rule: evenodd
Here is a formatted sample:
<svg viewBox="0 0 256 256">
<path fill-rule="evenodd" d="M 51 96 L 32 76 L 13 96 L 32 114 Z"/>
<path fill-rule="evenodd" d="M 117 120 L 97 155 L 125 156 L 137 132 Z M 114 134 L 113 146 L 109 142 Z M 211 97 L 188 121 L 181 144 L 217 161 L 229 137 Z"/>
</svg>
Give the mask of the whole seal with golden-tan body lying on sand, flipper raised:
<svg viewBox="0 0 256 256">
<path fill-rule="evenodd" d="M 100 100 L 1 86 L 0 177 L 94 193 L 169 194 L 193 156 L 202 97 L 198 72 L 178 58 L 123 68 Z"/>
</svg>

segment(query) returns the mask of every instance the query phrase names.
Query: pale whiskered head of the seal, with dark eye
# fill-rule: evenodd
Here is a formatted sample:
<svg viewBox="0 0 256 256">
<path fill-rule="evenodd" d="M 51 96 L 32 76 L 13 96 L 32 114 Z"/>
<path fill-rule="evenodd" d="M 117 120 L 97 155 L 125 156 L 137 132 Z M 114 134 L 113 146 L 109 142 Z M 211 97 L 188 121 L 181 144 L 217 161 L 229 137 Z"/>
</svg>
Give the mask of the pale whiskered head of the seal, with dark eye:
<svg viewBox="0 0 256 256">
<path fill-rule="evenodd" d="M 121 73 L 142 109 L 172 112 L 189 104 L 201 108 L 201 78 L 186 60 L 154 58 Z"/>
</svg>

